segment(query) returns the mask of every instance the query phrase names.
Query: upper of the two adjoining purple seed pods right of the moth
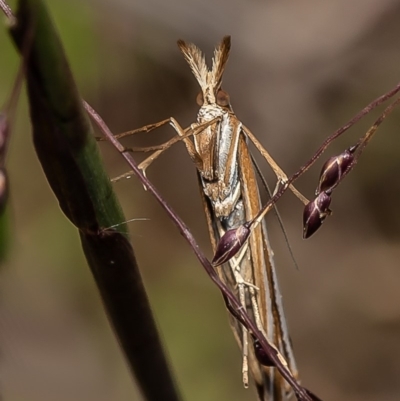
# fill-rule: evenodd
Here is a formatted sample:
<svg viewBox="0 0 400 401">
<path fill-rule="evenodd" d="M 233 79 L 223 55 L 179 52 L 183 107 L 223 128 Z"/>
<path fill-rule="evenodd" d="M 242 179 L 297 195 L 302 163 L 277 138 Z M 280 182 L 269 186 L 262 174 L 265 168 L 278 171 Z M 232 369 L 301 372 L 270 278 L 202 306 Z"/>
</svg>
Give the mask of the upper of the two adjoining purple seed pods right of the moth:
<svg viewBox="0 0 400 401">
<path fill-rule="evenodd" d="M 322 166 L 319 176 L 318 188 L 315 195 L 323 191 L 332 191 L 343 178 L 344 172 L 354 160 L 354 151 L 356 146 L 346 149 L 338 156 L 330 157 Z"/>
</svg>

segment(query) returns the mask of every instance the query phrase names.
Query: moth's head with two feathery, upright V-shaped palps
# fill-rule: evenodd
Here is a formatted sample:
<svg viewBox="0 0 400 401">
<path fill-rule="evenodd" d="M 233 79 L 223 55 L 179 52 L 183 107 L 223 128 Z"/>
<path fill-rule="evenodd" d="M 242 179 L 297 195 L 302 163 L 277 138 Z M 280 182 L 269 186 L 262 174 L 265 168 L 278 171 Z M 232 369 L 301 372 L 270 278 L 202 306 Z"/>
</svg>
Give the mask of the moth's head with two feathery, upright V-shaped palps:
<svg viewBox="0 0 400 401">
<path fill-rule="evenodd" d="M 196 45 L 178 40 L 178 47 L 200 85 L 197 104 L 217 104 L 230 109 L 229 95 L 221 89 L 222 75 L 231 48 L 230 36 L 225 36 L 215 49 L 211 69 L 207 67 L 204 54 Z"/>
</svg>

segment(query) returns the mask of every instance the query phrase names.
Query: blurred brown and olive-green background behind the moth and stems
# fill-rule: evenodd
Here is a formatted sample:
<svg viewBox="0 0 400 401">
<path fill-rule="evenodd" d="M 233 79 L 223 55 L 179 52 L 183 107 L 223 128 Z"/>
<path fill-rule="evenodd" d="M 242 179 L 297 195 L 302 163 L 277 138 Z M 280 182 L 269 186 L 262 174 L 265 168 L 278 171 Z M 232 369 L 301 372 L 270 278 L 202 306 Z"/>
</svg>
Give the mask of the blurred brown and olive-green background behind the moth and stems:
<svg viewBox="0 0 400 401">
<path fill-rule="evenodd" d="M 288 174 L 400 79 L 398 0 L 48 3 L 82 96 L 114 132 L 169 116 L 190 124 L 198 87 L 176 40 L 193 41 L 210 59 L 232 35 L 224 88 Z M 3 103 L 18 65 L 5 27 L 0 48 Z M 0 272 L 1 393 L 7 401 L 140 399 L 77 232 L 35 157 L 25 99 L 18 111 L 8 159 L 9 251 Z M 358 123 L 301 179 L 307 197 L 323 161 L 353 144 L 378 115 Z M 334 216 L 315 237 L 301 239 L 302 207 L 293 196 L 279 202 L 299 271 L 268 217 L 302 382 L 323 400 L 400 399 L 399 127 L 395 111 L 335 192 Z M 166 128 L 126 144 L 172 135 Z M 110 176 L 127 170 L 114 150 L 101 147 Z M 184 146 L 165 153 L 148 176 L 211 256 Z M 240 353 L 217 289 L 136 179 L 116 190 L 127 219 L 150 219 L 130 223 L 131 238 L 184 399 L 254 400 L 242 388 Z"/>
</svg>

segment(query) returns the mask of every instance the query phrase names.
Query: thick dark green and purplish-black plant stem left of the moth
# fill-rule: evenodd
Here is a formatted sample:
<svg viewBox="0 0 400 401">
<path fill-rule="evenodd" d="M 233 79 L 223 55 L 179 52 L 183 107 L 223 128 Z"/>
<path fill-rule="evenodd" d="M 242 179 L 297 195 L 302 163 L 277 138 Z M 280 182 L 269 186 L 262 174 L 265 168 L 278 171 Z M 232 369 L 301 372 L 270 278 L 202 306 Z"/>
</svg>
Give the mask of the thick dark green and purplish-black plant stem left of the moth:
<svg viewBox="0 0 400 401">
<path fill-rule="evenodd" d="M 79 230 L 104 309 L 141 393 L 148 401 L 177 401 L 127 227 L 119 224 L 126 219 L 62 41 L 41 0 L 19 0 L 15 18 L 10 35 L 24 61 L 33 142 L 47 181 Z"/>
</svg>

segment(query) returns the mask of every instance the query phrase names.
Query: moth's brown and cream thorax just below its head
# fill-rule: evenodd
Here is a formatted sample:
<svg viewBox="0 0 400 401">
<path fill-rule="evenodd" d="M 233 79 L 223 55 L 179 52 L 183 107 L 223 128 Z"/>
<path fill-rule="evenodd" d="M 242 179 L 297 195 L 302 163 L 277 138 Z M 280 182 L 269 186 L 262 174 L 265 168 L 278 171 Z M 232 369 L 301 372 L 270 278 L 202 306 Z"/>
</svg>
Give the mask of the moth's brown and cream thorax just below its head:
<svg viewBox="0 0 400 401">
<path fill-rule="evenodd" d="M 199 170 L 205 194 L 210 199 L 217 217 L 232 213 L 239 197 L 237 164 L 237 119 L 231 111 L 214 105 L 204 105 L 198 113 L 198 123 L 216 119 L 215 123 L 194 136 L 196 151 L 203 166 Z M 231 153 L 233 151 L 233 153 Z M 233 154 L 235 157 L 229 158 Z"/>
</svg>

